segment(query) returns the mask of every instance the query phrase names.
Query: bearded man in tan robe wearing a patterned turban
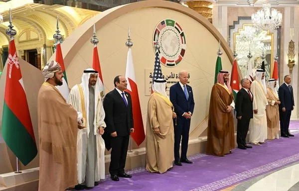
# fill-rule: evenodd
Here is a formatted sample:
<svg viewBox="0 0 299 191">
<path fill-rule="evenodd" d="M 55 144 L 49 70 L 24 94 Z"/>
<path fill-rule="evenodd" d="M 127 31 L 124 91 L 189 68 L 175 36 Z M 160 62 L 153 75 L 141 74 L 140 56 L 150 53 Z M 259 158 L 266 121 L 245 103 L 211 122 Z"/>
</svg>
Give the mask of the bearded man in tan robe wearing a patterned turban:
<svg viewBox="0 0 299 191">
<path fill-rule="evenodd" d="M 60 65 L 51 61 L 42 70 L 45 82 L 38 92 L 39 186 L 38 191 L 64 191 L 77 185 L 77 128 L 84 128 L 82 113 L 60 94 Z"/>
</svg>

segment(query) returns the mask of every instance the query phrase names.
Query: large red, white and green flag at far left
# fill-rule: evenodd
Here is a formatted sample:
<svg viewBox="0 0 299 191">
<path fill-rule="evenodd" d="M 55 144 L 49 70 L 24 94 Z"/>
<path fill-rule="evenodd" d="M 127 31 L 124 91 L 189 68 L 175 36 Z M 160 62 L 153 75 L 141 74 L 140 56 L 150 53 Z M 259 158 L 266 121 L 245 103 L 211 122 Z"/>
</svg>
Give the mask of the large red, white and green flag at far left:
<svg viewBox="0 0 299 191">
<path fill-rule="evenodd" d="M 36 156 L 37 147 L 13 37 L 6 63 L 1 135 L 13 154 L 27 165 Z"/>
</svg>

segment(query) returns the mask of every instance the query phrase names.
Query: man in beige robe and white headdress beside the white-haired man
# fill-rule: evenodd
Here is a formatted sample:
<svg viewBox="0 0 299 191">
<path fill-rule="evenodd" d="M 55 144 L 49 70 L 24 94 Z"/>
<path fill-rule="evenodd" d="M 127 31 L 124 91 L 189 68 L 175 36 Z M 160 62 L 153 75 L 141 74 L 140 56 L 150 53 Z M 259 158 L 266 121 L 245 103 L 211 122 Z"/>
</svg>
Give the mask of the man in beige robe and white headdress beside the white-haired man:
<svg viewBox="0 0 299 191">
<path fill-rule="evenodd" d="M 164 173 L 172 168 L 174 157 L 173 105 L 166 95 L 166 81 L 154 80 L 149 97 L 146 141 L 146 169 Z"/>
</svg>

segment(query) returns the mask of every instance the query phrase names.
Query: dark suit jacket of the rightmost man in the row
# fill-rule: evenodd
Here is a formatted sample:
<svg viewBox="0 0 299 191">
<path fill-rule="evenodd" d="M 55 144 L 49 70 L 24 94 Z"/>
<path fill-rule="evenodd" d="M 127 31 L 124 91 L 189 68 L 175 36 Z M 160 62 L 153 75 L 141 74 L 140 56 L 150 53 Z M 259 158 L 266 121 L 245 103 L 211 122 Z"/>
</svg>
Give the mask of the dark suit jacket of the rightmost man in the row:
<svg viewBox="0 0 299 191">
<path fill-rule="evenodd" d="M 290 91 L 286 83 L 282 84 L 278 89 L 278 95 L 279 100 L 281 101 L 279 109 L 282 110 L 282 108 L 285 107 L 286 110 L 292 110 L 293 106 L 295 106 L 293 87 L 291 86 Z"/>
</svg>

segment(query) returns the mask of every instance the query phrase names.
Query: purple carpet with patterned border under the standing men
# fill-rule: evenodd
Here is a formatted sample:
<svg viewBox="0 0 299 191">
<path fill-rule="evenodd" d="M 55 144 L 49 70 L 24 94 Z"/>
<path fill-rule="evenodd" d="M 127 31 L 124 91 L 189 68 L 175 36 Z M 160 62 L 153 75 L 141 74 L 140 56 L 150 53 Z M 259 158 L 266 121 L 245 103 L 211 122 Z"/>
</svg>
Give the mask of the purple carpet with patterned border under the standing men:
<svg viewBox="0 0 299 191">
<path fill-rule="evenodd" d="M 174 166 L 164 174 L 135 169 L 128 172 L 133 174 L 131 179 L 120 178 L 114 182 L 108 178 L 92 191 L 219 191 L 299 162 L 299 149 L 294 146 L 299 145 L 298 133 L 294 133 L 295 137 L 280 137 L 252 149 L 235 149 L 225 157 L 190 156 L 193 164 Z"/>
</svg>

